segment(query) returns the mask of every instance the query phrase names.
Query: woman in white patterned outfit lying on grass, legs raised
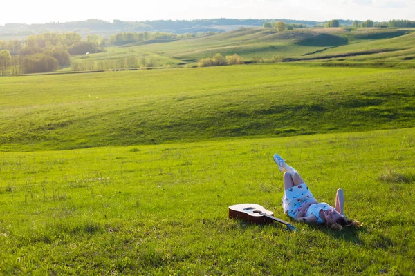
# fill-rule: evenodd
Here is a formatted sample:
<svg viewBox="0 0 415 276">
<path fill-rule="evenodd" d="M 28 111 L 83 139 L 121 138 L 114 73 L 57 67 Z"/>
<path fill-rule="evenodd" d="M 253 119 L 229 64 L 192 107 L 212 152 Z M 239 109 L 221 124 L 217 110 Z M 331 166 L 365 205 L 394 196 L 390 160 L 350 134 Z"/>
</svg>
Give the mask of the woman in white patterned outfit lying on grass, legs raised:
<svg viewBox="0 0 415 276">
<path fill-rule="evenodd" d="M 308 189 L 304 180 L 299 177 L 297 170 L 288 166 L 285 160 L 274 155 L 280 171 L 284 172 L 284 195 L 282 197 L 282 208 L 284 213 L 297 221 L 306 224 L 326 224 L 334 230 L 342 230 L 343 226 L 360 226 L 358 221 L 347 219 L 344 215 L 344 193 L 342 189 L 337 190 L 335 195 L 335 207 L 325 202 L 318 203 Z"/>
</svg>

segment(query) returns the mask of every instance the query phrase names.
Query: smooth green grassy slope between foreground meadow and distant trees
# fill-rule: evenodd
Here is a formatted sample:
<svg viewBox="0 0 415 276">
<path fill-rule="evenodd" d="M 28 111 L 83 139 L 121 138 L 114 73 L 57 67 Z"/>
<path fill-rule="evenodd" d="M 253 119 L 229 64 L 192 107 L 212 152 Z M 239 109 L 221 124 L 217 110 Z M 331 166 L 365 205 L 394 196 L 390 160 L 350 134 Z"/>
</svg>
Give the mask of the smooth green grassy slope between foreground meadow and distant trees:
<svg viewBox="0 0 415 276">
<path fill-rule="evenodd" d="M 251 65 L 0 78 L 0 150 L 414 126 L 414 70 Z"/>
</svg>

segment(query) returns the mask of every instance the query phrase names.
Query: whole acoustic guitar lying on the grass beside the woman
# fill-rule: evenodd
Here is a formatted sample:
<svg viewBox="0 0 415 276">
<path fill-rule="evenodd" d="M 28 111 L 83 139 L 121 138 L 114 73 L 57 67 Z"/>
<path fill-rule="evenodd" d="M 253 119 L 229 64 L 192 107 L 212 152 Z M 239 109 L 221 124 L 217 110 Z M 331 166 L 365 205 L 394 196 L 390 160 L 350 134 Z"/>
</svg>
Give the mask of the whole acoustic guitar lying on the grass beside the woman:
<svg viewBox="0 0 415 276">
<path fill-rule="evenodd" d="M 273 221 L 277 221 L 280 224 L 284 224 L 287 230 L 297 230 L 297 228 L 295 228 L 292 224 L 282 219 L 277 219 L 274 217 L 273 212 L 266 210 L 264 207 L 258 204 L 248 203 L 229 206 L 228 217 L 243 219 L 255 224 L 267 224 Z"/>
</svg>

